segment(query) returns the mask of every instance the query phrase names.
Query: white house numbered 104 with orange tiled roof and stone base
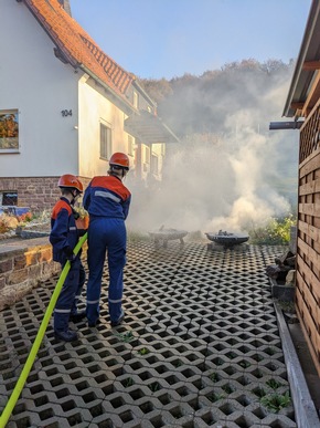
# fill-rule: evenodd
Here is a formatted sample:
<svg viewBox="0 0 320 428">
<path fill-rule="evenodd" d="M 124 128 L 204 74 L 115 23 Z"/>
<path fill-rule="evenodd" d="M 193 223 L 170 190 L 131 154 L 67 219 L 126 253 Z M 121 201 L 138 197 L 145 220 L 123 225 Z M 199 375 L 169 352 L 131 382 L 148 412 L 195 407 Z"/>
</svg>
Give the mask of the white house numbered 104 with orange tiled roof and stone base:
<svg viewBox="0 0 320 428">
<path fill-rule="evenodd" d="M 128 182 L 151 188 L 161 180 L 164 160 L 164 144 L 158 142 L 171 139 L 153 121 L 154 103 L 116 63 L 117 84 L 109 85 L 115 76 L 109 64 L 104 69 L 107 55 L 83 41 L 70 17 L 60 15 L 60 27 L 53 4 L 41 4 L 32 13 L 23 1 L 0 0 L 0 205 L 46 209 L 60 195 L 61 175 L 74 174 L 86 186 L 107 174 L 115 152 L 129 156 Z M 67 63 L 55 53 L 65 54 Z"/>
</svg>

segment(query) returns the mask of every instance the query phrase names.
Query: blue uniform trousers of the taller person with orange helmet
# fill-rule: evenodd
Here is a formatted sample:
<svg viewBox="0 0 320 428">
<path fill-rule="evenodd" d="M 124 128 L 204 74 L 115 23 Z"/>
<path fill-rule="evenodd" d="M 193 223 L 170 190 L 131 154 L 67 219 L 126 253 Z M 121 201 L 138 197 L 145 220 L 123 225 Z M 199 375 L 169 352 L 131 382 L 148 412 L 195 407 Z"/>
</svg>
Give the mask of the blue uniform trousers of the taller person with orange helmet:
<svg viewBox="0 0 320 428">
<path fill-rule="evenodd" d="M 110 321 L 121 316 L 124 293 L 124 267 L 126 264 L 127 231 L 125 220 L 90 217 L 88 229 L 87 319 L 95 323 L 99 317 L 102 278 L 106 252 L 108 258 L 109 288 L 108 309 Z"/>
</svg>

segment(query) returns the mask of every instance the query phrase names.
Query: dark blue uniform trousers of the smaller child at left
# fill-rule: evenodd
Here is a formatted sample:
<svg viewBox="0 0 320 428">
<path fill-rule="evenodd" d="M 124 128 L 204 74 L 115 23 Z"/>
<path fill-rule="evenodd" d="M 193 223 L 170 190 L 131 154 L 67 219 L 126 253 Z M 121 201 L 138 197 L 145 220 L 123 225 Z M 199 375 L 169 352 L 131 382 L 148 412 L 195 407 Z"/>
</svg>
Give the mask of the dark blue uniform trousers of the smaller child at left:
<svg viewBox="0 0 320 428">
<path fill-rule="evenodd" d="M 62 268 L 64 263 L 62 264 Z M 71 269 L 65 279 L 54 310 L 54 331 L 66 332 L 71 314 L 77 312 L 77 301 L 81 297 L 86 274 L 81 259 L 71 263 Z"/>
</svg>

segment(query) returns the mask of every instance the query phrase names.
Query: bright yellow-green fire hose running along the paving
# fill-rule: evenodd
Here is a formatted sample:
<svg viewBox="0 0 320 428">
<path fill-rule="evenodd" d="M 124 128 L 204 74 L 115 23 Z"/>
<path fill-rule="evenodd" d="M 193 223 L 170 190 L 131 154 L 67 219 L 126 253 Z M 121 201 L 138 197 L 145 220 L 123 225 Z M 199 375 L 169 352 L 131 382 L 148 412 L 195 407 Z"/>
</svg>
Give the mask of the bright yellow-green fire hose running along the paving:
<svg viewBox="0 0 320 428">
<path fill-rule="evenodd" d="M 78 241 L 78 243 L 76 244 L 75 249 L 74 249 L 74 253 L 77 254 L 79 252 L 79 249 L 82 248 L 82 246 L 85 243 L 87 239 L 87 233 L 85 233 Z M 34 340 L 34 343 L 32 345 L 32 348 L 30 351 L 30 354 L 28 356 L 28 359 L 24 364 L 24 367 L 20 374 L 20 377 L 15 384 L 15 387 L 11 394 L 11 397 L 9 399 L 9 401 L 7 403 L 7 406 L 4 407 L 3 411 L 2 411 L 2 415 L 0 416 L 0 428 L 6 428 L 6 424 L 8 422 L 11 414 L 12 414 L 12 410 L 18 401 L 18 398 L 23 389 L 23 386 L 25 384 L 25 380 L 29 376 L 29 373 L 33 366 L 33 363 L 34 363 L 34 359 L 36 357 L 36 354 L 38 354 L 38 351 L 40 348 L 40 345 L 41 345 L 41 342 L 44 337 L 44 334 L 45 334 L 45 331 L 46 331 L 46 327 L 47 327 L 47 324 L 50 322 L 50 319 L 51 319 L 51 315 L 53 313 L 53 310 L 55 307 L 55 304 L 56 304 L 56 301 L 57 301 L 57 297 L 61 293 L 61 290 L 62 290 L 62 286 L 64 284 L 64 281 L 66 279 L 66 275 L 70 271 L 70 268 L 71 268 L 71 262 L 67 261 L 61 272 L 61 275 L 60 275 L 60 279 L 55 285 L 55 289 L 53 291 L 53 294 L 51 296 L 51 300 L 49 302 L 49 306 L 45 311 L 45 314 L 43 316 L 43 320 L 42 320 L 42 323 L 40 325 L 40 328 L 39 328 L 39 332 L 35 336 L 35 340 Z"/>
</svg>

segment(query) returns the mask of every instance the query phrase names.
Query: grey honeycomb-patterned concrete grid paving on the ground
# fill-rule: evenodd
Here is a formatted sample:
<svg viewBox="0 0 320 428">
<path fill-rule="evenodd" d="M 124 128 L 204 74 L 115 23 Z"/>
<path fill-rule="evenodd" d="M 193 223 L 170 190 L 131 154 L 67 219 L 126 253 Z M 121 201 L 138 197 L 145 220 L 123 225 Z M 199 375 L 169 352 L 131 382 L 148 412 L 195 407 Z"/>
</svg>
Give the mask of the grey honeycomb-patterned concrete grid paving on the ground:
<svg viewBox="0 0 320 428">
<path fill-rule="evenodd" d="M 297 427 L 265 275 L 282 250 L 130 242 L 125 323 L 110 328 L 106 288 L 102 324 L 78 323 L 77 342 L 51 323 L 8 428 Z M 56 280 L 0 313 L 0 410 Z"/>
</svg>

